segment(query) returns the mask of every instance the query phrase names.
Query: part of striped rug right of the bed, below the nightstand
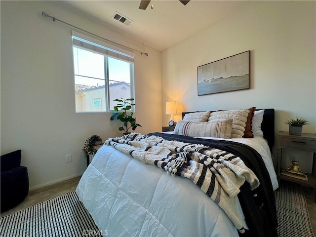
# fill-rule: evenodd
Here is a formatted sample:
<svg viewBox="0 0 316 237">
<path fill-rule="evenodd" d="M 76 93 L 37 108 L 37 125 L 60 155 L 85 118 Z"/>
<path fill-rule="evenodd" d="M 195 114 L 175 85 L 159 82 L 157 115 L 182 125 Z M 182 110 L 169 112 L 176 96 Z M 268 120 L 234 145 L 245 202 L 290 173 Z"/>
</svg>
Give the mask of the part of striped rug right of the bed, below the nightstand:
<svg viewBox="0 0 316 237">
<path fill-rule="evenodd" d="M 277 235 L 279 237 L 315 237 L 304 191 L 301 185 L 281 181 L 275 192 Z"/>
</svg>

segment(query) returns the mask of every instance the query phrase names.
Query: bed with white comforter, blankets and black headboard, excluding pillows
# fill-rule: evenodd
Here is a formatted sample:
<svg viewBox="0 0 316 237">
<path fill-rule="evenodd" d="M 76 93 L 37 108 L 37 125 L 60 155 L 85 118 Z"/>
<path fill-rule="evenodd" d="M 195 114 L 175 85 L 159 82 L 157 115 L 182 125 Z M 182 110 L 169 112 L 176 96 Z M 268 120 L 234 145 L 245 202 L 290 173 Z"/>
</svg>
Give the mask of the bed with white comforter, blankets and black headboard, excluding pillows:
<svg viewBox="0 0 316 237">
<path fill-rule="evenodd" d="M 278 183 L 270 152 L 274 109 L 257 111 L 263 111 L 263 137 L 201 138 L 167 132 L 108 139 L 79 181 L 79 200 L 109 236 L 277 236 Z M 220 156 L 230 168 L 211 156 Z M 220 178 L 225 170 L 235 169 L 228 160 L 243 167 L 237 181 L 232 182 L 237 175 L 229 181 Z M 239 181 L 232 193 L 231 187 L 226 192 L 225 185 L 237 186 Z"/>
</svg>

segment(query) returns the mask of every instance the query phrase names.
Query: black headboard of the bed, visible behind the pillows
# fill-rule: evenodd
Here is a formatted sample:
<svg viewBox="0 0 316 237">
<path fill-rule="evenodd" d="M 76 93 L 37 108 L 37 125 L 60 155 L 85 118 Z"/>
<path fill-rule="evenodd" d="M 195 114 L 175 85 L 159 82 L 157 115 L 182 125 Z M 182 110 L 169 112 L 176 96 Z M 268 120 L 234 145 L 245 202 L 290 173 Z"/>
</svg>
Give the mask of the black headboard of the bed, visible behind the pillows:
<svg viewBox="0 0 316 237">
<path fill-rule="evenodd" d="M 256 111 L 261 110 L 257 109 Z M 261 123 L 261 130 L 263 131 L 264 138 L 268 141 L 270 151 L 275 145 L 275 109 L 264 109 L 263 119 Z M 212 112 L 212 111 L 211 111 Z M 182 118 L 189 113 L 194 112 L 183 112 Z"/>
</svg>

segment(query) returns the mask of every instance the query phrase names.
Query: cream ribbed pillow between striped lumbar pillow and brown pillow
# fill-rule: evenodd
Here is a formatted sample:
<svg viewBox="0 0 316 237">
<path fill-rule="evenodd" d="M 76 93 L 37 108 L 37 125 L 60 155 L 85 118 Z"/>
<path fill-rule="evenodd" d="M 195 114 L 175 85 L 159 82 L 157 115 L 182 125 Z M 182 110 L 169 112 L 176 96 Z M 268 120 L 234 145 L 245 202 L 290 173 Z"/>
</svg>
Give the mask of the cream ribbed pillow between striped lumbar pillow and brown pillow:
<svg viewBox="0 0 316 237">
<path fill-rule="evenodd" d="M 227 110 L 212 112 L 208 120 L 230 118 L 233 119 L 231 138 L 242 138 L 246 126 L 249 110 Z"/>
</svg>

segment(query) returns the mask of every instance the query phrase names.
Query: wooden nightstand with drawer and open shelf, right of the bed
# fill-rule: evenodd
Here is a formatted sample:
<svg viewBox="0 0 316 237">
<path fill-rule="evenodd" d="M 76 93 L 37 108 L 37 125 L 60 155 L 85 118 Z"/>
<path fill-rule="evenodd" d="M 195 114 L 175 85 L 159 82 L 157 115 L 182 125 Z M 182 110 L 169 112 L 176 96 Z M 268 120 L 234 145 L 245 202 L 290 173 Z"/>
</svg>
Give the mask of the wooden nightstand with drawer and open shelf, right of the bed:
<svg viewBox="0 0 316 237">
<path fill-rule="evenodd" d="M 278 144 L 277 144 L 277 178 L 283 179 L 295 183 L 299 183 L 302 185 L 306 185 L 309 187 L 314 188 L 315 192 L 315 201 L 316 201 L 316 174 L 307 174 L 308 180 L 302 180 L 295 177 L 290 177 L 281 174 L 282 168 L 287 167 L 281 167 L 282 163 L 282 150 L 283 149 L 292 149 L 292 150 L 298 150 L 298 151 L 305 151 L 305 152 L 312 152 L 314 153 L 313 159 L 314 159 L 314 170 L 315 172 L 315 157 L 316 157 L 316 134 L 311 133 L 302 133 L 302 135 L 289 135 L 288 132 L 280 131 L 278 134 Z"/>
</svg>

